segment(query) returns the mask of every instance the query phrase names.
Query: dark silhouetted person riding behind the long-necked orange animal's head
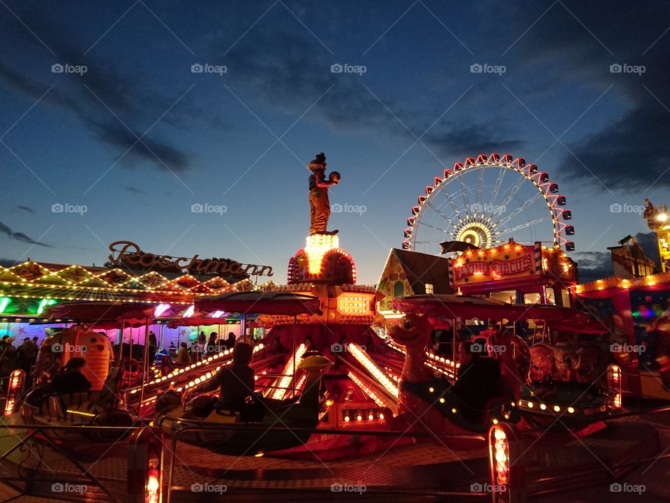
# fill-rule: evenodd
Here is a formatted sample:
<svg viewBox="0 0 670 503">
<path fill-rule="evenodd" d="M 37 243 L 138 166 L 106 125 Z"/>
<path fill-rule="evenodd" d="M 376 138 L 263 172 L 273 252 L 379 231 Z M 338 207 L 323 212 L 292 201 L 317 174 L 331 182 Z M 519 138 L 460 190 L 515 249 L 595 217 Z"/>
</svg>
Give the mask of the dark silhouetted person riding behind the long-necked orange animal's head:
<svg viewBox="0 0 670 503">
<path fill-rule="evenodd" d="M 481 423 L 486 402 L 498 395 L 498 360 L 479 355 L 481 344 L 461 342 L 459 367 L 454 393 L 461 403 L 461 414 L 470 423 Z"/>
</svg>

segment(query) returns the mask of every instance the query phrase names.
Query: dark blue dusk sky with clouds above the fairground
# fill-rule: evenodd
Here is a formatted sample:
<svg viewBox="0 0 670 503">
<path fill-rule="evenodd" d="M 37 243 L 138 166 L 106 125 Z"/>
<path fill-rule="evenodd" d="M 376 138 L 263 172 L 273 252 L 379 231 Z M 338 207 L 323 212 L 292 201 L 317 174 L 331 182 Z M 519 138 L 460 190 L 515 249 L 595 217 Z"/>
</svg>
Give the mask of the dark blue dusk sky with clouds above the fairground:
<svg viewBox="0 0 670 503">
<path fill-rule="evenodd" d="M 308 230 L 304 164 L 322 151 L 343 177 L 332 203 L 366 207 L 330 227 L 368 284 L 425 185 L 466 156 L 548 171 L 582 267 L 647 232 L 611 205 L 670 202 L 665 2 L 1 3 L 0 258 L 100 264 L 128 239 L 284 282 Z"/>
</svg>

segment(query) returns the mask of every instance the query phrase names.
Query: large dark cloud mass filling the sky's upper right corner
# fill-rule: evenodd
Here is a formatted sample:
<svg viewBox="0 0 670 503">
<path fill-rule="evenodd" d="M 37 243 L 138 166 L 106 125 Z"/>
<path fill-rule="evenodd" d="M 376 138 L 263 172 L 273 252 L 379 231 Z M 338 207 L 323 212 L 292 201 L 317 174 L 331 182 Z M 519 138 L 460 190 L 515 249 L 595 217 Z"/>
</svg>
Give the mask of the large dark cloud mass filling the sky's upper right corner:
<svg viewBox="0 0 670 503">
<path fill-rule="evenodd" d="M 560 167 L 601 189 L 600 182 L 618 191 L 670 187 L 667 4 L 621 3 L 613 9 L 605 1 L 565 0 L 549 6 L 548 2 L 516 4 L 506 10 L 509 17 L 502 22 L 514 34 L 510 43 L 517 33 L 523 34 L 509 50 L 516 57 L 516 71 L 528 76 L 523 82 L 526 92 L 517 91 L 521 101 L 529 105 L 534 99 L 558 101 L 557 90 L 569 89 L 568 94 L 581 95 L 586 112 L 611 86 L 574 128 L 590 124 L 592 131 L 585 127 L 588 132 L 581 137 L 562 138 L 571 152 L 564 150 Z M 644 72 L 612 73 L 613 64 L 644 66 Z M 598 129 L 593 124 L 605 125 Z"/>
</svg>

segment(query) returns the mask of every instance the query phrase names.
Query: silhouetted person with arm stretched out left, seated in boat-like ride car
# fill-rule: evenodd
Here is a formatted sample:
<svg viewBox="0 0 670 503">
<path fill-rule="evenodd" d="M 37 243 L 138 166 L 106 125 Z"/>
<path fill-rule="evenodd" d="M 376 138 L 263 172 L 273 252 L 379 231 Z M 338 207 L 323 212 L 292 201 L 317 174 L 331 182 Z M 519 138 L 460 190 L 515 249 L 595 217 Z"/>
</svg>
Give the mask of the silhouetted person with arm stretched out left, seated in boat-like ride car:
<svg viewBox="0 0 670 503">
<path fill-rule="evenodd" d="M 241 411 L 245 408 L 248 396 L 256 398 L 253 393 L 255 383 L 253 368 L 249 366 L 252 358 L 251 344 L 239 342 L 232 350 L 232 363 L 221 368 L 214 379 L 201 384 L 193 390 L 193 393 L 221 388 L 221 395 L 215 408 Z"/>
</svg>

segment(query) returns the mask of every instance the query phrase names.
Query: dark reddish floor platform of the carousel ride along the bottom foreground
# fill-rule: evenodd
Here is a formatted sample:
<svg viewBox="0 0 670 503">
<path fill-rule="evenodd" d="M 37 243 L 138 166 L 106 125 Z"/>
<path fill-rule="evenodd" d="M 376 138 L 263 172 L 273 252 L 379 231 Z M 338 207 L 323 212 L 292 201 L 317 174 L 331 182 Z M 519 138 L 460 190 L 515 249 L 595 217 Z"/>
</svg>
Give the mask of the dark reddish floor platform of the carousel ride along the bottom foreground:
<svg viewBox="0 0 670 503">
<path fill-rule="evenodd" d="M 608 421 L 607 428 L 583 438 L 567 432 L 526 437 L 524 462 L 529 499 L 565 493 L 566 488 L 572 493 L 582 488 L 605 487 L 621 480 L 636 467 L 636 462 L 660 453 L 659 432 L 663 428 L 659 427 L 639 417 L 628 417 Z M 8 451 L 25 435 L 19 430 L 3 430 L 0 451 Z M 25 449 L 15 450 L 0 463 L 2 481 L 15 490 L 52 500 L 112 500 L 82 474 L 70 457 L 80 462 L 119 501 L 130 501 L 124 443 L 110 446 L 106 451 L 101 451 L 101 446 L 87 446 L 73 453 L 66 450 L 69 446 L 61 445 L 58 452 L 39 438 L 35 441 L 27 442 Z M 170 445 L 167 440 L 165 485 L 169 478 Z M 484 444 L 482 449 L 463 452 L 451 451 L 435 440 L 322 462 L 270 455 L 217 455 L 177 442 L 170 501 L 231 501 L 231 497 L 239 502 L 344 501 L 353 496 L 350 493 L 355 488 L 362 487 L 364 492 L 359 490 L 360 494 L 355 496 L 364 501 L 443 501 L 447 497 L 449 501 L 471 501 L 477 484 L 484 486 L 489 481 L 487 452 Z M 85 485 L 87 490 L 81 494 L 54 493 L 54 484 L 59 483 Z M 216 486 L 225 486 L 225 492 L 198 490 Z M 649 490 L 646 496 L 652 496 Z"/>
</svg>

